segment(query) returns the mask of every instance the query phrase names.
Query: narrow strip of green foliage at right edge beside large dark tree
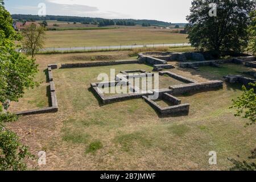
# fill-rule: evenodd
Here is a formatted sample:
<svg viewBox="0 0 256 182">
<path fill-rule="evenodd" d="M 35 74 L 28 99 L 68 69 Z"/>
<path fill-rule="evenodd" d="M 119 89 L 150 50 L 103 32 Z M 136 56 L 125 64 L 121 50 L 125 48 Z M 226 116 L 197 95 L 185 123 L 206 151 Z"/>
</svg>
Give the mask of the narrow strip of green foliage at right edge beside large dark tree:
<svg viewBox="0 0 256 182">
<path fill-rule="evenodd" d="M 248 30 L 250 35 L 250 40 L 249 40 L 249 46 L 247 48 L 247 51 L 255 54 L 256 53 L 256 10 L 251 11 L 250 18 L 251 18 L 251 24 Z"/>
</svg>

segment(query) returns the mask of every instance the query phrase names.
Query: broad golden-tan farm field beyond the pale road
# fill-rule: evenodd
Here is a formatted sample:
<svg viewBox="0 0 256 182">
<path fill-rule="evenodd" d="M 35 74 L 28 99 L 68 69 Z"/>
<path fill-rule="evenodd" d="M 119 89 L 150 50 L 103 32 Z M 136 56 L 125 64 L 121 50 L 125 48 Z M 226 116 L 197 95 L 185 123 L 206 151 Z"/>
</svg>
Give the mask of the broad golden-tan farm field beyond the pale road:
<svg viewBox="0 0 256 182">
<path fill-rule="evenodd" d="M 186 34 L 174 30 L 122 27 L 106 30 L 46 31 L 45 47 L 119 46 L 133 44 L 187 43 Z"/>
</svg>

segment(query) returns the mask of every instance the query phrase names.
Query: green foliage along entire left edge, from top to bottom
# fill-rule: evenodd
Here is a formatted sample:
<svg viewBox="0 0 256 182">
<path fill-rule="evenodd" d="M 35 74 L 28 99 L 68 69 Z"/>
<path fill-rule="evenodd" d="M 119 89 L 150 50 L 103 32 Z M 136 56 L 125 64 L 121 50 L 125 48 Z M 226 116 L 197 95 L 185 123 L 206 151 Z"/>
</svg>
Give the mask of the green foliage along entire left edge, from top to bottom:
<svg viewBox="0 0 256 182">
<path fill-rule="evenodd" d="M 31 157 L 17 135 L 3 125 L 16 119 L 13 114 L 3 113 L 3 109 L 8 109 L 8 101 L 22 97 L 24 88 L 36 84 L 32 79 L 38 67 L 35 60 L 15 51 L 14 41 L 21 40 L 21 36 L 12 23 L 11 15 L 0 0 L 0 170 L 24 170 L 24 159 Z"/>
</svg>

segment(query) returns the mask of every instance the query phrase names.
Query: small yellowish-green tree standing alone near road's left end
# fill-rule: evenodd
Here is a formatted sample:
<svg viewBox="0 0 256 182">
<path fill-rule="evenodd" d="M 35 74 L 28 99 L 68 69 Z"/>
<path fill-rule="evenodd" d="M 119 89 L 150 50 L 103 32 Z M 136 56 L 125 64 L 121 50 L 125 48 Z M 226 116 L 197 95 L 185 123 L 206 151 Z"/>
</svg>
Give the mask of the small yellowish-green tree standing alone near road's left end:
<svg viewBox="0 0 256 182">
<path fill-rule="evenodd" d="M 45 30 L 42 26 L 36 26 L 35 23 L 27 26 L 24 31 L 22 31 L 23 39 L 23 48 L 26 49 L 27 53 L 31 54 L 34 58 L 35 53 L 39 49 L 43 48 L 45 40 Z"/>
</svg>

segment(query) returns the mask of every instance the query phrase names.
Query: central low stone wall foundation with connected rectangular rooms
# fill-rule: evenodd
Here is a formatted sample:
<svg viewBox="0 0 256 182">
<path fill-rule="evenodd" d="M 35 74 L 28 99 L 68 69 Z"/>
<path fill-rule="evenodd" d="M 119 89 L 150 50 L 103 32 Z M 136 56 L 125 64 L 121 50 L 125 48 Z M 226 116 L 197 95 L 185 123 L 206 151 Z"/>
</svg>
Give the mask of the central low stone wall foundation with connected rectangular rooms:
<svg viewBox="0 0 256 182">
<path fill-rule="evenodd" d="M 103 104 L 110 104 L 112 102 L 118 102 L 118 101 L 125 101 L 130 100 L 134 98 L 144 98 L 144 100 L 150 104 L 155 110 L 157 110 L 161 115 L 169 115 L 169 114 L 183 114 L 188 113 L 189 111 L 189 104 L 181 104 L 181 100 L 178 98 L 172 96 L 172 94 L 182 94 L 187 92 L 193 92 L 195 90 L 207 90 L 212 88 L 219 88 L 222 87 L 223 82 L 219 80 L 215 81 L 208 81 L 208 82 L 196 82 L 190 78 L 186 78 L 180 75 L 177 75 L 172 72 L 159 72 L 159 75 L 168 75 L 172 78 L 175 78 L 176 80 L 183 81 L 187 84 L 181 84 L 181 85 L 174 85 L 170 86 L 170 88 L 166 89 L 157 89 L 157 90 L 148 90 L 147 92 L 140 92 L 141 90 L 139 88 L 134 88 L 133 86 L 130 86 L 130 90 L 132 90 L 132 93 L 126 93 L 126 94 L 117 94 L 115 96 L 105 96 L 104 93 L 99 89 L 101 86 L 115 86 L 117 84 L 129 84 L 129 78 L 137 78 L 137 77 L 149 77 L 154 76 L 154 73 L 143 73 L 144 71 L 141 71 L 141 73 L 136 73 L 134 75 L 129 75 L 129 72 L 139 72 L 138 70 L 135 71 L 121 71 L 121 73 L 126 73 L 122 76 L 116 76 L 116 81 L 113 82 L 106 82 L 106 83 L 92 83 L 91 88 L 93 92 L 97 95 L 98 98 L 100 98 L 101 102 Z M 154 100 L 150 99 L 150 96 L 158 96 L 158 98 L 162 100 L 166 100 L 170 102 L 172 105 L 168 107 L 161 107 Z"/>
</svg>

